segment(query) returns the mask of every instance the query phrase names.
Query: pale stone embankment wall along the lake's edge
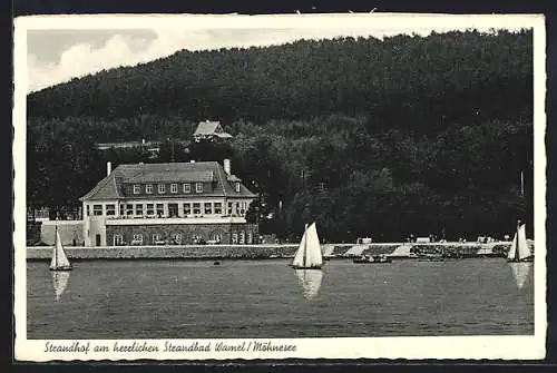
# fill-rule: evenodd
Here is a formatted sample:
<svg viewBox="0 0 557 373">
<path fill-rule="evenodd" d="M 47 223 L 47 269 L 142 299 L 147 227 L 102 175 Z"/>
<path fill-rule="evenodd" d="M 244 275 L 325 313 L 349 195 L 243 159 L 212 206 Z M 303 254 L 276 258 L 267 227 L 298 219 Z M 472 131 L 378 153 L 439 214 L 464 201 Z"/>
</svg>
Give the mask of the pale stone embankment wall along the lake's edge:
<svg viewBox="0 0 557 373">
<path fill-rule="evenodd" d="M 390 254 L 403 243 L 375 243 L 375 244 L 323 244 L 325 258 L 351 258 L 367 254 Z M 420 243 L 411 244 L 414 248 L 426 253 L 439 251 L 463 253 L 466 256 L 488 257 L 496 251 L 506 251 L 509 242 L 489 244 L 478 243 Z M 297 244 L 285 245 L 182 245 L 182 246 L 67 246 L 66 254 L 69 259 L 275 259 L 292 258 L 297 249 Z M 352 254 L 353 252 L 359 254 Z M 50 259 L 52 246 L 28 246 L 27 261 Z"/>
</svg>

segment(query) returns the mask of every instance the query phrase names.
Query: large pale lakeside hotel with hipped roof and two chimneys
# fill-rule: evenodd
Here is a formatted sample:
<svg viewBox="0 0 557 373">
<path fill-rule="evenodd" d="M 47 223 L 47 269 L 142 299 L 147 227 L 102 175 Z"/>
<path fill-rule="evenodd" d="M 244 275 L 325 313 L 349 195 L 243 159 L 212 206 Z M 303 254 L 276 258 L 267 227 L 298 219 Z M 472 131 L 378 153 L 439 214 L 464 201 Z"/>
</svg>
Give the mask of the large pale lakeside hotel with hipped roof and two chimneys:
<svg viewBox="0 0 557 373">
<path fill-rule="evenodd" d="M 223 167 L 224 166 L 224 167 Z M 252 244 L 245 214 L 256 195 L 217 161 L 107 164 L 107 176 L 80 198 L 85 246 Z"/>
</svg>

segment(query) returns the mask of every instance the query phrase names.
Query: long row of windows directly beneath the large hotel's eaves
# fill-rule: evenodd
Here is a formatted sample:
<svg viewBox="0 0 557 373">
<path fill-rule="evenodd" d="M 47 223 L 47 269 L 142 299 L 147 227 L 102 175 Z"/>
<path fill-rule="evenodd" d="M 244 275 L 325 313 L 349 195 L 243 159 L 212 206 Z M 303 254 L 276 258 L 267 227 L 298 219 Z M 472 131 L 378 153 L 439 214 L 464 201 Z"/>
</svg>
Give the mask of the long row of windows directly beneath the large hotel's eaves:
<svg viewBox="0 0 557 373">
<path fill-rule="evenodd" d="M 206 203 L 183 203 L 182 212 L 179 212 L 179 204 L 168 204 L 168 214 L 165 214 L 164 204 L 123 204 L 119 205 L 120 216 L 187 216 L 187 215 L 222 215 L 223 204 L 219 202 L 206 202 Z M 228 202 L 227 203 L 227 215 L 245 215 L 247 210 L 247 202 Z M 182 213 L 182 214 L 180 214 Z M 87 216 L 90 215 L 89 205 L 87 205 Z M 92 215 L 102 215 L 102 205 L 92 205 Z M 106 215 L 116 215 L 116 205 L 106 205 Z"/>
</svg>

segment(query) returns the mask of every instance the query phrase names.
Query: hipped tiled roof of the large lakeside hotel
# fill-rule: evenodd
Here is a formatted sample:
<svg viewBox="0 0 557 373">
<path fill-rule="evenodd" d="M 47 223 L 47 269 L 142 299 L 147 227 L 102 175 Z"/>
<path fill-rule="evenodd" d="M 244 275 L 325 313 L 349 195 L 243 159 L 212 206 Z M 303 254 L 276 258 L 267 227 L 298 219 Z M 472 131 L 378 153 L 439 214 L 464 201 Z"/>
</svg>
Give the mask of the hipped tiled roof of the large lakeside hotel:
<svg viewBox="0 0 557 373">
<path fill-rule="evenodd" d="M 145 183 L 202 183 L 215 181 L 211 196 L 255 197 L 256 195 L 241 184 L 236 192 L 234 181 L 241 181 L 235 175 L 227 175 L 217 161 L 170 163 L 170 164 L 133 164 L 119 165 L 110 175 L 101 179 L 79 200 L 106 200 L 126 198 L 124 185 Z M 204 194 L 204 196 L 209 196 Z M 138 196 L 134 196 L 138 198 Z M 160 196 L 162 197 L 162 196 Z M 175 197 L 175 196 L 167 196 Z"/>
</svg>

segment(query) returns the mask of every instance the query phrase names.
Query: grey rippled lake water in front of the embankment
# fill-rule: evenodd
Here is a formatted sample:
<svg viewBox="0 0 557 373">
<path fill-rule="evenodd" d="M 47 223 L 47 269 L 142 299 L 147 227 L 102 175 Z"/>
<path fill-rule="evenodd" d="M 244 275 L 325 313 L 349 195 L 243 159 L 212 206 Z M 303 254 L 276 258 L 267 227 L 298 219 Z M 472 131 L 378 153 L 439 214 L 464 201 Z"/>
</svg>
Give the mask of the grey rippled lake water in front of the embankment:
<svg viewBox="0 0 557 373">
<path fill-rule="evenodd" d="M 84 261 L 60 275 L 29 262 L 28 338 L 534 333 L 531 263 L 333 259 L 322 278 L 287 264 Z"/>
</svg>

